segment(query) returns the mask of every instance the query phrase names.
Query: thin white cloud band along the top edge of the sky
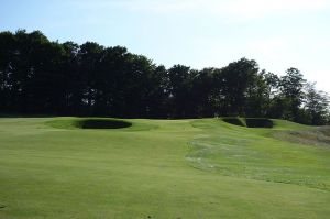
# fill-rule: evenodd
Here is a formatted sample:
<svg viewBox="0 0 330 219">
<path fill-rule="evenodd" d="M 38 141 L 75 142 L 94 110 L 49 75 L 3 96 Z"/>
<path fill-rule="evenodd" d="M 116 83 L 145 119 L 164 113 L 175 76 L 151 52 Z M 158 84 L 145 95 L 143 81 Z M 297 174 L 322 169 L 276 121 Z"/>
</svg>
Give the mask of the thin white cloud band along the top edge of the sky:
<svg viewBox="0 0 330 219">
<path fill-rule="evenodd" d="M 184 12 L 196 13 L 196 15 L 209 13 L 233 21 L 321 10 L 329 7 L 327 0 L 125 0 L 114 1 L 114 3 L 131 11 Z"/>
</svg>

